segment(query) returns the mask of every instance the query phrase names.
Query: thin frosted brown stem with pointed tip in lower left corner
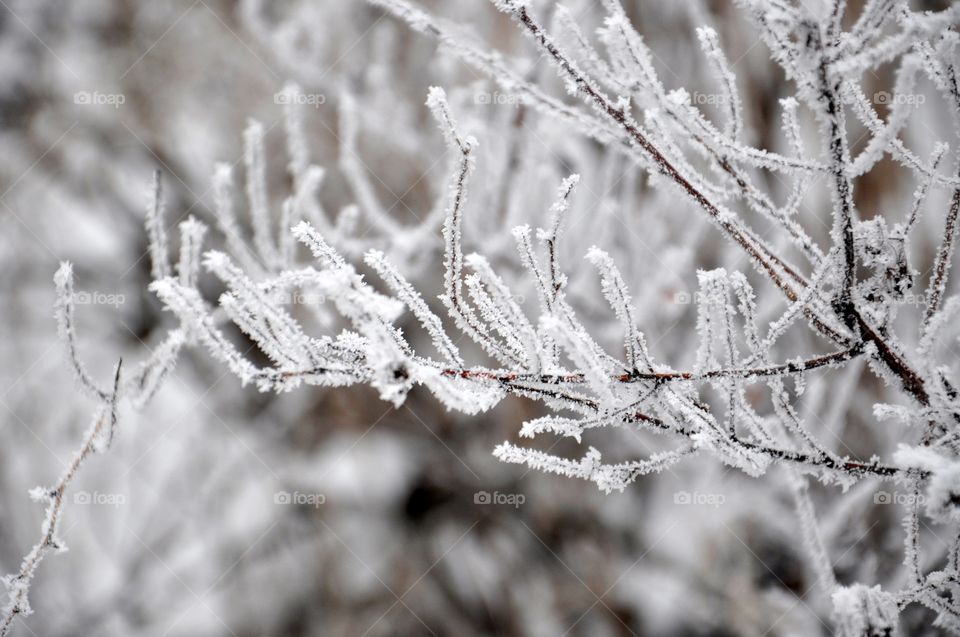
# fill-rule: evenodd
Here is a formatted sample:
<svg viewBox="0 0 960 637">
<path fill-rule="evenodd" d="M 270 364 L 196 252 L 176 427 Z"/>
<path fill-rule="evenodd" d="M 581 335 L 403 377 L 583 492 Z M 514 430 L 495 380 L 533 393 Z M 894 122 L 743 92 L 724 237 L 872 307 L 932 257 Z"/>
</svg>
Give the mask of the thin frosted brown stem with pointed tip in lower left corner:
<svg viewBox="0 0 960 637">
<path fill-rule="evenodd" d="M 117 426 L 117 407 L 120 388 L 120 368 L 123 361 L 117 363 L 113 377 L 113 391 L 107 396 L 104 405 L 98 408 L 93 424 L 87 429 L 83 443 L 57 483 L 48 489 L 37 487 L 31 490 L 31 497 L 38 501 L 46 501 L 47 509 L 44 513 L 41 526 L 41 538 L 20 563 L 20 570 L 4 578 L 4 583 L 10 591 L 10 600 L 0 618 L 0 637 L 7 637 L 13 628 L 13 622 L 18 616 L 26 617 L 33 611 L 30 609 L 30 586 L 37 573 L 40 562 L 51 551 L 66 550 L 62 540 L 57 537 L 60 528 L 60 519 L 63 513 L 63 497 L 67 488 L 77 476 L 80 466 L 93 453 L 100 451 L 100 441 L 106 437 L 106 446 L 112 441 Z"/>
</svg>

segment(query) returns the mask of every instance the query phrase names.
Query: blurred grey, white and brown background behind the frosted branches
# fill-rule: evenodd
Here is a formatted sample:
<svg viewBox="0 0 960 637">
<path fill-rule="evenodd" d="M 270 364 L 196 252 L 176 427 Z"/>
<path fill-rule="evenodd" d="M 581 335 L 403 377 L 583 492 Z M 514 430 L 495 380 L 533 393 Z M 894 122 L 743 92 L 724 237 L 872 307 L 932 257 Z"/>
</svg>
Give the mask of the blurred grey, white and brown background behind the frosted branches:
<svg viewBox="0 0 960 637">
<path fill-rule="evenodd" d="M 534 4 L 549 22 L 552 3 Z M 566 5 L 586 33 L 601 26 L 600 3 Z M 716 90 L 694 35 L 700 25 L 716 28 L 745 99 L 746 141 L 786 148 L 777 100 L 792 87 L 731 3 L 624 5 L 670 88 Z M 555 72 L 489 2 L 423 6 L 564 96 Z M 87 294 L 78 329 L 92 373 L 104 382 L 117 358 L 143 360 L 175 325 L 146 290 L 153 171 L 163 175 L 171 236 L 189 215 L 214 227 L 214 165 L 234 166 L 242 184 L 242 131 L 256 118 L 279 217 L 290 183 L 278 92 L 289 81 L 309 98 L 299 112 L 311 161 L 327 171 L 320 199 L 331 219 L 358 202 L 362 188 L 350 173 L 359 171 L 403 224 L 442 205 L 452 158 L 423 103 L 429 86 L 444 87 L 480 143 L 467 248 L 492 255 L 521 290 L 503 228 L 543 219 L 560 179 L 580 173 L 564 247 L 571 278 L 591 276 L 579 265 L 587 247 L 611 251 L 660 361 L 683 368 L 693 360 L 695 312 L 683 299 L 696 289 L 696 269 L 748 269 L 696 211 L 652 189 L 629 160 L 530 111 L 435 40 L 359 0 L 2 0 L 3 572 L 39 537 L 42 507 L 27 490 L 55 481 L 94 407 L 75 390 L 56 338 L 58 263 L 74 263 Z M 892 81 L 891 70 L 869 86 Z M 921 156 L 948 130 L 935 101 L 924 106 L 924 125 L 907 129 Z M 704 111 L 720 113 L 709 103 Z M 349 148 L 345 122 L 357 127 Z M 814 139 L 812 118 L 804 126 Z M 914 184 L 902 172 L 882 163 L 857 184 L 865 217 L 899 215 L 909 204 Z M 779 198 L 789 192 L 769 187 Z M 930 209 L 943 210 L 945 197 L 932 193 Z M 804 201 L 821 245 L 828 202 L 823 189 Z M 918 258 L 938 242 L 937 219 L 918 233 Z M 369 245 L 389 239 L 373 229 Z M 433 303 L 439 232 L 412 247 L 402 269 Z M 213 282 L 202 285 L 215 299 Z M 580 309 L 614 348 L 618 326 L 598 286 L 571 287 L 583 290 Z M 785 356 L 810 345 L 809 336 L 791 338 L 797 351 Z M 854 363 L 819 374 L 798 402 L 838 447 L 869 458 L 902 435 L 873 428 L 871 405 L 885 391 Z M 698 458 L 605 496 L 590 483 L 493 459 L 496 444 L 516 440 L 520 424 L 542 413 L 510 398 L 465 417 L 422 390 L 399 409 L 362 387 L 263 395 L 204 352 L 188 352 L 144 410 L 124 408 L 114 447 L 84 467 L 64 516 L 70 551 L 42 565 L 36 614 L 15 634 L 830 634 L 829 603 L 800 553 L 778 470 L 755 481 Z M 632 457 L 663 445 L 630 430 L 588 442 Z M 552 452 L 579 458 L 583 449 L 561 442 Z M 813 490 L 841 581 L 897 582 L 904 511 L 878 504 L 878 488 L 864 483 L 843 497 L 837 487 Z M 905 634 L 936 634 L 921 628 L 929 621 L 910 611 Z"/>
</svg>

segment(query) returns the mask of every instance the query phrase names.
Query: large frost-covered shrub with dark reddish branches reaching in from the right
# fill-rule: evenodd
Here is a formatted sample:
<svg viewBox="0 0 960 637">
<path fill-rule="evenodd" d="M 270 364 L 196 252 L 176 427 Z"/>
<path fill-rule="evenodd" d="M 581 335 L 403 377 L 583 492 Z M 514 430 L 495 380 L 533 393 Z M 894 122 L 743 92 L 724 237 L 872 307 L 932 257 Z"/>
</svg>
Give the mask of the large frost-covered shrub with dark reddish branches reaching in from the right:
<svg viewBox="0 0 960 637">
<path fill-rule="evenodd" d="M 349 93 L 340 102 L 341 170 L 357 205 L 336 215 L 318 203 L 324 170 L 310 163 L 296 108 L 302 100 L 282 100 L 292 192 L 280 206 L 267 191 L 263 127 L 252 122 L 244 133 L 242 190 L 251 240 L 234 208 L 240 188 L 231 169 L 220 166 L 214 175 L 219 232 L 184 221 L 179 260 L 171 263 L 158 176 L 147 214 L 155 279 L 150 289 L 179 324 L 136 376 L 118 381 L 111 392 L 99 388 L 76 357 L 65 310 L 62 332 L 81 385 L 106 404 L 115 404 L 118 393 L 142 403 L 183 348 L 201 348 L 262 392 L 364 384 L 399 407 L 423 387 L 446 408 L 466 414 L 489 411 L 511 395 L 539 401 L 549 415 L 518 423 L 518 437 L 499 445 L 497 458 L 589 480 L 607 493 L 694 457 L 716 459 L 761 484 L 770 481 L 771 489 L 777 484 L 771 474 L 779 472 L 791 487 L 819 594 L 832 601 L 821 610 L 833 616 L 840 634 L 893 634 L 899 613 L 913 604 L 932 610 L 938 626 L 960 632 L 960 399 L 957 361 L 944 346 L 958 337 L 960 309 L 949 276 L 960 213 L 954 149 L 960 10 L 918 13 L 903 2 L 871 0 L 859 15 L 847 16 L 842 0 L 816 7 L 741 1 L 793 91 L 779 103 L 774 150 L 755 143 L 741 80 L 709 27 L 697 31 L 696 55 L 716 92 L 701 99 L 695 87 L 668 88 L 656 52 L 617 0 L 604 0 L 606 18 L 596 38 L 563 7 L 547 11 L 544 3 L 495 0 L 529 36 L 530 59 L 542 57 L 555 69 L 563 95 L 551 78 L 538 78 L 526 63 L 487 50 L 461 27 L 416 5 L 370 2 L 439 41 L 444 55 L 514 98 L 477 103 L 520 105 L 647 175 L 652 193 L 626 201 L 654 207 L 644 213 L 650 224 L 641 231 L 645 238 L 666 236 L 664 228 L 679 223 L 670 215 L 682 208 L 725 239 L 720 255 L 701 260 L 654 246 L 670 261 L 668 269 L 710 265 L 696 271 L 698 290 L 685 297 L 695 302 L 670 310 L 686 321 L 684 342 L 690 345 L 665 354 L 648 343 L 649 324 L 663 329 L 657 303 L 671 291 L 638 266 L 635 255 L 648 246 L 639 239 L 584 236 L 589 223 L 577 236 L 568 232 L 574 211 L 602 213 L 577 203 L 580 189 L 590 187 L 587 180 L 550 174 L 553 203 L 531 210 L 536 198 L 524 199 L 524 183 L 511 180 L 499 162 L 495 125 L 485 129 L 470 117 L 462 95 L 448 99 L 434 87 L 426 105 L 447 146 L 449 177 L 446 192 L 419 223 L 394 218 L 354 161 L 364 111 Z M 550 14 L 549 28 L 541 14 Z M 896 68 L 894 91 L 871 99 L 874 91 L 863 78 L 887 65 Z M 286 90 L 295 95 L 299 89 Z M 928 122 L 936 139 L 922 150 L 904 134 L 923 103 L 907 98 L 922 96 L 921 90 L 942 97 L 946 113 Z M 481 166 L 487 146 L 497 161 Z M 855 185 L 890 160 L 913 184 L 912 196 L 883 210 L 860 208 Z M 547 181 L 543 175 L 534 185 Z M 492 205 L 498 189 L 512 199 L 492 223 L 489 216 L 502 212 Z M 924 221 L 931 217 L 935 223 Z M 496 232 L 501 223 L 509 234 Z M 931 224 L 942 228 L 934 233 L 939 247 L 930 263 L 922 263 L 919 229 Z M 824 225 L 829 233 L 820 231 Z M 222 248 L 205 249 L 204 241 L 215 235 L 222 236 Z M 467 252 L 467 243 L 481 249 Z M 312 259 L 304 259 L 306 252 Z M 439 269 L 442 288 L 436 289 L 427 275 Z M 201 292 L 199 281 L 207 275 L 225 290 L 217 299 Z M 65 271 L 58 281 L 67 277 Z M 61 303 L 69 308 L 72 292 L 64 286 Z M 317 302 L 295 308 L 282 302 L 291 294 Z M 907 302 L 915 296 L 922 302 Z M 601 297 L 602 310 L 596 304 Z M 415 333 L 397 326 L 407 313 L 419 325 Z M 268 363 L 245 356 L 227 324 Z M 659 342 L 660 335 L 653 336 Z M 862 364 L 884 387 L 843 399 L 870 401 L 869 427 L 883 432 L 882 453 L 873 457 L 853 455 L 838 436 L 827 435 L 815 413 L 798 406 L 818 377 Z M 854 385 L 857 392 L 862 384 Z M 817 391 L 821 399 L 827 395 Z M 594 431 L 605 428 L 650 434 L 656 450 L 623 457 L 616 447 L 605 449 L 602 432 Z M 585 450 L 564 457 L 520 442 L 551 436 L 583 443 Z M 885 588 L 838 581 L 838 556 L 818 522 L 811 479 L 838 500 L 862 497 L 867 483 L 913 496 L 902 527 L 904 568 L 883 582 Z M 55 498 L 51 507 L 46 529 L 56 523 Z M 921 541 L 928 524 L 949 538 L 947 546 Z M 35 551 L 48 545 L 44 540 Z M 28 557 L 26 574 L 11 580 L 11 613 L 27 608 L 34 561 Z"/>
</svg>

